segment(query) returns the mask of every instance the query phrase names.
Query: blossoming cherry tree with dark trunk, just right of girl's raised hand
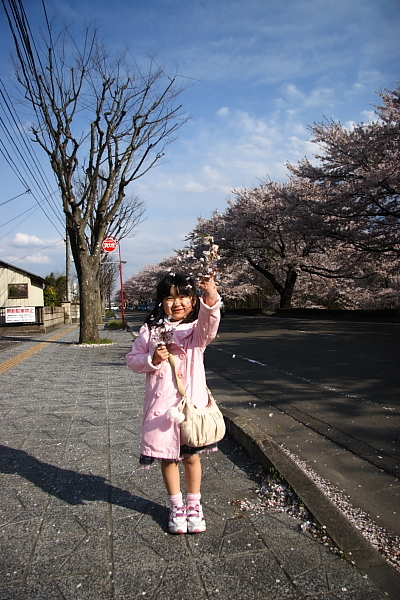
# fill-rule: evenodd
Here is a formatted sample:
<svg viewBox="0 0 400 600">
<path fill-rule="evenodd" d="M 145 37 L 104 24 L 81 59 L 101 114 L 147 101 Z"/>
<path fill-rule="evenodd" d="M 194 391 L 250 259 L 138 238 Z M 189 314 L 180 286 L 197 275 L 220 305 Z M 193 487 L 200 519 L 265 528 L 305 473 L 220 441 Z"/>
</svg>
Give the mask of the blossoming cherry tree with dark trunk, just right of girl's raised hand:
<svg viewBox="0 0 400 600">
<path fill-rule="evenodd" d="M 306 184 L 302 182 L 302 193 Z M 308 185 L 309 196 L 314 191 Z M 322 217 L 304 202 L 297 181 L 268 182 L 234 193 L 236 198 L 228 201 L 223 214 L 215 212 L 208 220 L 198 220 L 188 236 L 192 245 L 199 234 L 211 233 L 221 246 L 221 269 L 224 264 L 225 268 L 233 262 L 240 264 L 253 284 L 258 273 L 264 287 L 268 282 L 279 296 L 281 308 L 290 308 L 293 302 L 297 306 L 357 306 L 355 282 L 365 286 L 371 264 L 341 240 L 324 236 Z"/>
</svg>

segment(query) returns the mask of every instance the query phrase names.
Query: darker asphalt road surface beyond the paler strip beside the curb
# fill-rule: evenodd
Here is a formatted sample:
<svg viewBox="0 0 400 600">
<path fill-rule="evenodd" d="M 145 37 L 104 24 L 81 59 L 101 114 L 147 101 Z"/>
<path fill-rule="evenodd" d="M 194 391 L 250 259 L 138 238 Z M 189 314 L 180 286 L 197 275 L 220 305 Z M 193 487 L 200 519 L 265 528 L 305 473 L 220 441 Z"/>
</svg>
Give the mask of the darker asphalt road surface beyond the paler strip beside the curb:
<svg viewBox="0 0 400 600">
<path fill-rule="evenodd" d="M 398 475 L 400 324 L 227 316 L 206 364 L 260 407 Z"/>
</svg>

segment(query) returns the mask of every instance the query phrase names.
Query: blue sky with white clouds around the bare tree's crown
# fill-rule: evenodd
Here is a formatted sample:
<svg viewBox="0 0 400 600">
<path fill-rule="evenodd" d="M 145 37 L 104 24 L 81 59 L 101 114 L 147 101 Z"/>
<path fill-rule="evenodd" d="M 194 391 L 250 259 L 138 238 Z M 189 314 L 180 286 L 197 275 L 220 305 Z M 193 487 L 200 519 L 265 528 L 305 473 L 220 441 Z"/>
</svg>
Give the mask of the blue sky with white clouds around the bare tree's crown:
<svg viewBox="0 0 400 600">
<path fill-rule="evenodd" d="M 41 0 L 24 4 L 38 31 Z M 167 69 L 193 80 L 181 96 L 192 118 L 166 162 L 132 188 L 147 210 L 136 235 L 121 242 L 124 278 L 183 247 L 197 217 L 223 211 L 232 188 L 285 181 L 286 161 L 316 150 L 308 125 L 324 117 L 348 126 L 368 121 L 379 103 L 374 92 L 400 80 L 398 0 L 46 0 L 46 7 L 78 31 L 96 19 L 110 47 L 127 42 L 139 59 L 157 50 Z M 1 12 L 6 86 L 7 49 Z M 7 202 L 25 186 L 2 157 L 0 174 L 0 260 L 42 276 L 62 273 L 61 226 L 33 210 L 29 194 Z"/>
</svg>

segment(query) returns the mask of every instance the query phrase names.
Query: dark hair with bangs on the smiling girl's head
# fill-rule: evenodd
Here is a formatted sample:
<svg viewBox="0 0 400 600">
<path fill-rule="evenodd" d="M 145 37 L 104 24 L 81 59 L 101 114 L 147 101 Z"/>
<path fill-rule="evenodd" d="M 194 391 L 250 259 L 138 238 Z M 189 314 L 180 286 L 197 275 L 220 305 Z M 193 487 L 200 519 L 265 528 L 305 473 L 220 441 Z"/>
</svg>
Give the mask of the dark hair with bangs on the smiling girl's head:
<svg viewBox="0 0 400 600">
<path fill-rule="evenodd" d="M 145 323 L 149 327 L 159 325 L 159 320 L 164 319 L 165 312 L 163 309 L 163 300 L 171 293 L 171 288 L 175 287 L 178 294 L 189 296 L 196 299 L 196 304 L 193 306 L 192 312 L 182 321 L 182 323 L 192 323 L 199 315 L 200 300 L 197 293 L 197 288 L 194 280 L 191 277 L 183 275 L 166 275 L 157 286 L 156 305 L 151 313 L 146 317 Z"/>
</svg>

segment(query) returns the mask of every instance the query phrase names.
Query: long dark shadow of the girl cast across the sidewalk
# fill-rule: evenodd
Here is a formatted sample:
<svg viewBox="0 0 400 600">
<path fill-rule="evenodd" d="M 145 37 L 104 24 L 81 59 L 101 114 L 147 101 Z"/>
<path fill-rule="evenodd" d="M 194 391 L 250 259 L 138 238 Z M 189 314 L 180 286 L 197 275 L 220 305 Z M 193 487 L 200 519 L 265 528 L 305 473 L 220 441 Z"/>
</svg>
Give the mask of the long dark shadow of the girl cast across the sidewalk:
<svg viewBox="0 0 400 600">
<path fill-rule="evenodd" d="M 167 530 L 168 509 L 157 502 L 131 494 L 107 483 L 104 477 L 77 473 L 42 462 L 23 450 L 0 444 L 0 472 L 20 475 L 45 493 L 71 505 L 85 502 L 108 502 L 141 514 L 150 515 Z"/>
</svg>

